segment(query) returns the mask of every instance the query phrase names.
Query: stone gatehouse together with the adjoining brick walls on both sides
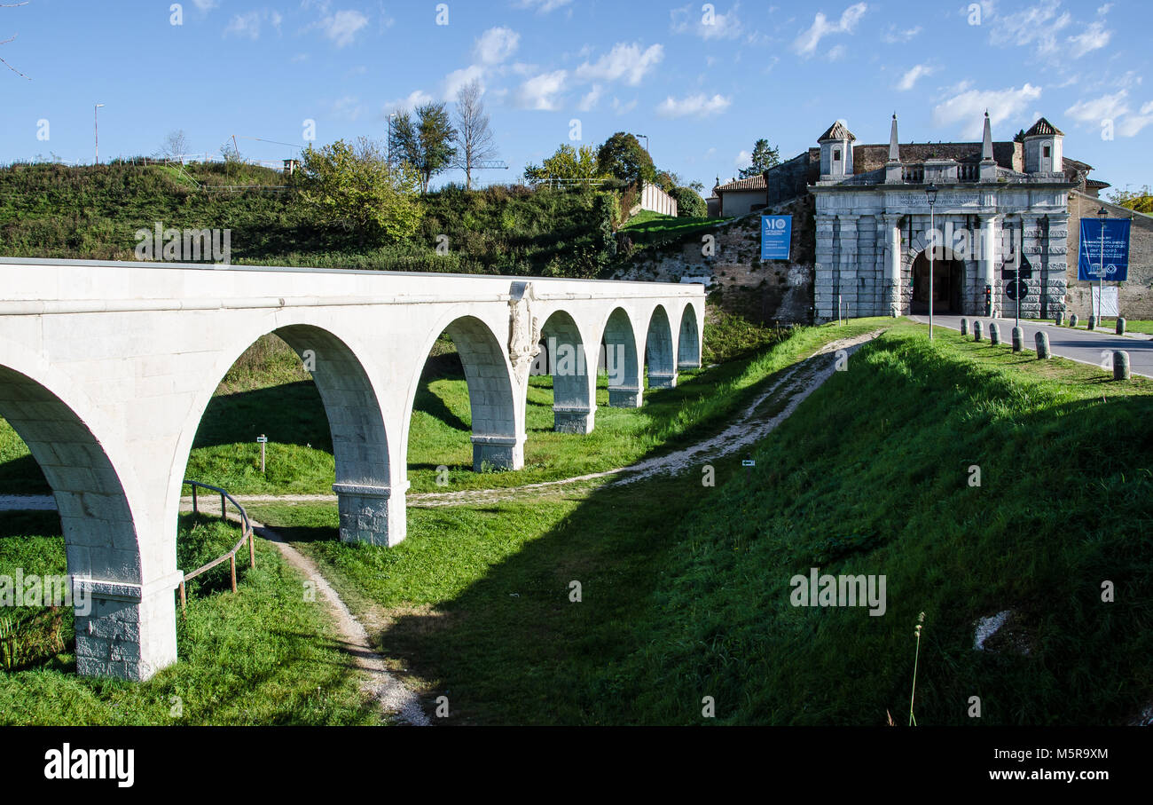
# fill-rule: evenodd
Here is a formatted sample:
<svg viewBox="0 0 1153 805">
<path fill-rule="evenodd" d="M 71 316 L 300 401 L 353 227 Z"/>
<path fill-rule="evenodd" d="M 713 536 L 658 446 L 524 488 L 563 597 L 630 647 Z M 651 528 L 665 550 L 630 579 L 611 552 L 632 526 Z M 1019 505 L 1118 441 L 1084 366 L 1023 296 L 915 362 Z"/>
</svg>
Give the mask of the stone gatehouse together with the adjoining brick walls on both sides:
<svg viewBox="0 0 1153 805">
<path fill-rule="evenodd" d="M 1107 182 L 1064 156 L 1064 134 L 1040 119 L 1020 142 L 995 142 L 988 115 L 980 142 L 900 143 L 896 115 L 889 143 L 859 144 L 844 122 L 762 176 L 714 187 L 709 216 L 716 253 L 702 256 L 700 235 L 650 253 L 621 278 L 708 277 L 724 306 L 774 323 L 822 322 L 842 315 L 925 313 L 929 295 L 929 206 L 940 233 L 934 253 L 936 313 L 1012 316 L 1016 280 L 1023 317 L 1090 313 L 1090 284 L 1077 280 L 1083 216 L 1102 204 L 1133 219 L 1129 280 L 1120 309 L 1153 318 L 1153 217 L 1099 198 Z M 791 259 L 759 259 L 760 213 L 793 215 Z M 737 216 L 733 219 L 733 216 Z M 774 293 L 769 293 L 773 291 Z M 723 292 L 723 293 L 722 293 Z M 811 294 L 800 299 L 800 293 Z"/>
</svg>

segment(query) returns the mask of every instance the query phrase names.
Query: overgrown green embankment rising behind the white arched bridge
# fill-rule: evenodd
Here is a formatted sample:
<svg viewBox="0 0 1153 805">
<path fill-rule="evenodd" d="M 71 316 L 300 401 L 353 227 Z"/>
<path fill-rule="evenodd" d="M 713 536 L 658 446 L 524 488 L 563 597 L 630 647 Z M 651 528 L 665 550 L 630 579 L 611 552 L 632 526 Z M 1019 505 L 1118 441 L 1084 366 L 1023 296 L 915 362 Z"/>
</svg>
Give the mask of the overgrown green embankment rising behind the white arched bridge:
<svg viewBox="0 0 1153 805">
<path fill-rule="evenodd" d="M 163 221 L 231 230 L 233 263 L 590 277 L 612 256 L 595 193 L 447 187 L 422 198 L 409 241 L 386 244 L 318 224 L 291 187 L 251 165 L 17 164 L 0 168 L 0 255 L 134 259 L 135 232 Z"/>
</svg>

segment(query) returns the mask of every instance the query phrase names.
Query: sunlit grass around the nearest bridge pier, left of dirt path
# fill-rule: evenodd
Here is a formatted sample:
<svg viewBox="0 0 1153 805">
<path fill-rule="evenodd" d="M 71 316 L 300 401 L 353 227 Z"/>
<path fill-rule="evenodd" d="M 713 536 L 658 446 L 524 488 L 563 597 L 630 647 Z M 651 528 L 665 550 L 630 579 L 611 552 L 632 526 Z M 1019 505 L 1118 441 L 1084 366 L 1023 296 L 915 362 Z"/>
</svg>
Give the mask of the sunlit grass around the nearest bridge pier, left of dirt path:
<svg viewBox="0 0 1153 805">
<path fill-rule="evenodd" d="M 238 536 L 219 520 L 182 517 L 181 566 L 218 556 Z M 257 541 L 256 562 L 241 566 L 236 594 L 227 564 L 189 584 L 187 618 L 176 616 L 180 661 L 141 684 L 76 676 L 70 609 L 58 610 L 62 648 L 51 645 L 51 610 L 10 610 L 27 661 L 0 674 L 0 723 L 379 723 L 321 604 L 304 601 L 303 579 L 267 543 Z M 54 513 L 0 513 L 0 574 L 17 567 L 65 572 Z"/>
</svg>

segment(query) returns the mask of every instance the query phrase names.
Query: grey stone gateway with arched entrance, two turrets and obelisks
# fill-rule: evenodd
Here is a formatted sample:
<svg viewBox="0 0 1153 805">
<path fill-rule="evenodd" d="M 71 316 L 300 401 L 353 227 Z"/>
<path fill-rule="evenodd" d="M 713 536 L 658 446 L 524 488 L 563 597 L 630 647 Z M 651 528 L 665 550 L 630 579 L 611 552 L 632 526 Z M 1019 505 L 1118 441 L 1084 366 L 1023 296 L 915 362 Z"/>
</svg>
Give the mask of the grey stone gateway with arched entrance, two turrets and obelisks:
<svg viewBox="0 0 1153 805">
<path fill-rule="evenodd" d="M 986 113 L 979 151 L 977 143 L 902 146 L 894 115 L 888 159 L 854 173 L 854 150 L 858 159 L 875 159 L 862 150 L 879 146 L 854 149 L 852 133 L 834 123 L 817 140 L 820 178 L 808 186 L 815 197 L 815 318 L 836 318 L 838 303 L 846 316 L 928 310 L 929 185 L 940 188 L 935 313 L 1011 315 L 1018 278 L 1026 288 L 1023 316 L 1064 310 L 1068 200 L 1090 168 L 1063 159 L 1062 138 L 1041 118 L 1024 142 L 994 144 Z"/>
</svg>

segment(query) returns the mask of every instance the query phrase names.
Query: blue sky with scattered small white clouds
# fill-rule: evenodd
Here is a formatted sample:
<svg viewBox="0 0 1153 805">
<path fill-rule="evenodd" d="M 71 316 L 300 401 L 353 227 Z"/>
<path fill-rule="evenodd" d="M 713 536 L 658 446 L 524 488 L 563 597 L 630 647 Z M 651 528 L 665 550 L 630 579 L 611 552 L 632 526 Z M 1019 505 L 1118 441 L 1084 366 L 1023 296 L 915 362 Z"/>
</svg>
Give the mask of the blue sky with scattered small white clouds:
<svg viewBox="0 0 1153 805">
<path fill-rule="evenodd" d="M 28 76 L 0 65 L 0 161 L 91 161 L 97 101 L 101 159 L 153 153 L 178 128 L 196 152 L 218 155 L 238 135 L 246 157 L 281 159 L 306 142 L 306 121 L 317 143 L 383 138 L 390 111 L 449 98 L 476 77 L 511 165 L 485 172 L 485 183 L 514 181 L 526 163 L 575 142 L 573 121 L 580 144 L 648 135 L 660 167 L 711 187 L 758 137 L 786 158 L 843 119 L 859 142 L 887 142 L 896 111 L 904 142 L 969 140 L 988 108 L 996 140 L 1045 115 L 1095 178 L 1153 185 L 1147 0 L 172 7 L 0 8 L 0 39 L 15 36 L 0 58 Z"/>
</svg>

